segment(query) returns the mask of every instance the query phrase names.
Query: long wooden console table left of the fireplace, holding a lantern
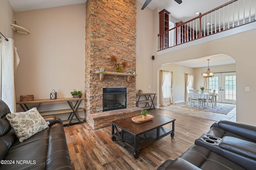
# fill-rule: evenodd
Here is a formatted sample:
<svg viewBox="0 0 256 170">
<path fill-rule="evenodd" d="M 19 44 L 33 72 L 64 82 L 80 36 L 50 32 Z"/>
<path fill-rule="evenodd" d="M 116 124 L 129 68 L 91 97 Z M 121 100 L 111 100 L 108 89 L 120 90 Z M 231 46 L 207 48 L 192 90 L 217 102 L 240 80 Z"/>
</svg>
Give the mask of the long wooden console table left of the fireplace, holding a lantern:
<svg viewBox="0 0 256 170">
<path fill-rule="evenodd" d="M 70 106 L 70 109 L 62 109 L 62 110 L 52 110 L 52 111 L 39 111 L 42 116 L 46 115 L 57 115 L 57 114 L 62 114 L 62 113 L 70 113 L 69 117 L 67 120 L 62 120 L 64 125 L 70 125 L 70 123 L 77 123 L 81 122 L 81 118 L 79 119 L 78 115 L 76 114 L 77 111 L 83 111 L 84 109 L 79 107 L 80 103 L 84 100 L 84 98 L 59 98 L 59 99 L 42 99 L 42 100 L 31 100 L 31 101 L 24 101 L 24 102 L 17 102 L 16 104 L 19 104 L 20 107 L 24 111 L 28 111 L 29 108 L 27 104 L 37 104 L 36 108 L 38 109 L 39 106 L 42 103 L 53 103 L 53 102 L 68 102 L 68 105 Z M 73 106 L 72 101 L 76 102 L 76 104 Z M 73 119 L 73 117 L 76 117 Z"/>
</svg>

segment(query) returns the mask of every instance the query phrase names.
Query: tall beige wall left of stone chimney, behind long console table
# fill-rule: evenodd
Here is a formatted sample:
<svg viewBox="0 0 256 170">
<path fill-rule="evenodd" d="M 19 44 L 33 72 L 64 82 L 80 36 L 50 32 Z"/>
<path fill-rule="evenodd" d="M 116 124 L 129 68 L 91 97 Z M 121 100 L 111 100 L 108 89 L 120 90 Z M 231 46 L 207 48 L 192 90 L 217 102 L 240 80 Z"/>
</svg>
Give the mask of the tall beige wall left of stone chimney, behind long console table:
<svg viewBox="0 0 256 170">
<path fill-rule="evenodd" d="M 30 31 L 28 35 L 14 33 L 20 57 L 15 77 L 17 102 L 20 95 L 28 94 L 49 99 L 53 89 L 57 98 L 71 98 L 73 89 L 84 96 L 85 12 L 85 4 L 76 4 L 15 13 L 19 25 Z M 67 102 L 44 105 L 40 111 L 60 108 L 69 106 Z M 84 117 L 83 111 L 80 116 Z"/>
</svg>

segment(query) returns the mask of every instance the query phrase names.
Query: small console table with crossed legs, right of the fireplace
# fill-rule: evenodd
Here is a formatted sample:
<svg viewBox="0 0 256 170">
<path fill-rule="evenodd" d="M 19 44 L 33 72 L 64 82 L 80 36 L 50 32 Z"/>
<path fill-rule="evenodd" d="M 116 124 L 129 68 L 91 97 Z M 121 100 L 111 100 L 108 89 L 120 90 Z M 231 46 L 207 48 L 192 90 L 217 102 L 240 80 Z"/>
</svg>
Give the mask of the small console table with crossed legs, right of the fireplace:
<svg viewBox="0 0 256 170">
<path fill-rule="evenodd" d="M 139 104 L 146 103 L 145 107 L 140 107 L 142 109 L 155 109 L 154 106 L 154 98 L 156 96 L 155 93 L 142 93 L 142 94 L 136 94 L 136 96 L 139 96 L 138 100 L 136 100 L 136 107 L 139 107 Z M 141 96 L 144 96 L 146 100 L 141 100 Z"/>
</svg>

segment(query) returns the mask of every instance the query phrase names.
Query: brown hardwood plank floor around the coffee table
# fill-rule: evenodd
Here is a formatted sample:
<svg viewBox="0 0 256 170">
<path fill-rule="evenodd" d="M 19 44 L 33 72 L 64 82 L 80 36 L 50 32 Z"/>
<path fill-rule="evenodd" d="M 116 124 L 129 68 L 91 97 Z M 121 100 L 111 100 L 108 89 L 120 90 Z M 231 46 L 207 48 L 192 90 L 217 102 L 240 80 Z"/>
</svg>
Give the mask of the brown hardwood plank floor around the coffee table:
<svg viewBox="0 0 256 170">
<path fill-rule="evenodd" d="M 96 130 L 87 123 L 64 127 L 72 168 L 74 170 L 155 170 L 165 160 L 180 156 L 215 122 L 164 109 L 149 110 L 148 113 L 176 119 L 175 135 L 174 138 L 168 135 L 144 147 L 140 150 L 138 159 L 134 159 L 133 152 L 120 145 L 118 139 L 112 141 L 111 126 Z"/>
</svg>

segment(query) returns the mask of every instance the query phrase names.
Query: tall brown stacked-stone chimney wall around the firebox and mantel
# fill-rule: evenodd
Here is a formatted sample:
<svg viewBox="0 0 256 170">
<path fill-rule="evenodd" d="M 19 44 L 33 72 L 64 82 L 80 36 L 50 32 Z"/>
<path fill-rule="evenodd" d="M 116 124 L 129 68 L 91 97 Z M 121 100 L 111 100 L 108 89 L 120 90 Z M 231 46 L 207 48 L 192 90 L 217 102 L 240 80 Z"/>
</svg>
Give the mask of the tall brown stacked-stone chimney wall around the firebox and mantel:
<svg viewBox="0 0 256 170">
<path fill-rule="evenodd" d="M 136 71 L 136 0 L 87 0 L 86 2 L 86 70 L 85 112 L 102 112 L 103 88 L 127 88 L 127 108 L 136 106 L 136 76 L 108 75 L 100 82 L 95 68 L 116 72 L 111 55 L 128 66 L 121 70 Z"/>
</svg>

